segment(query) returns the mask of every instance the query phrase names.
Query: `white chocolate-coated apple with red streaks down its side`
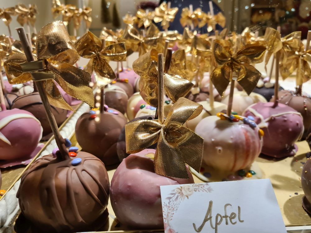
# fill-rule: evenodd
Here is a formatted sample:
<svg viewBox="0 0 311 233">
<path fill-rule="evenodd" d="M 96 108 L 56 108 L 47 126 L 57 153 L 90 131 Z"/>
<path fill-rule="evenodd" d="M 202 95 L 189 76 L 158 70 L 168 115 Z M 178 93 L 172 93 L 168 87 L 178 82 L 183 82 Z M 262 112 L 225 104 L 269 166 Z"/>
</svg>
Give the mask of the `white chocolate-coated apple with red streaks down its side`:
<svg viewBox="0 0 311 233">
<path fill-rule="evenodd" d="M 230 122 L 217 116 L 204 118 L 195 129 L 204 139 L 203 161 L 220 171 L 250 167 L 262 148 L 258 130 L 258 126 L 252 128 L 243 121 Z"/>
</svg>

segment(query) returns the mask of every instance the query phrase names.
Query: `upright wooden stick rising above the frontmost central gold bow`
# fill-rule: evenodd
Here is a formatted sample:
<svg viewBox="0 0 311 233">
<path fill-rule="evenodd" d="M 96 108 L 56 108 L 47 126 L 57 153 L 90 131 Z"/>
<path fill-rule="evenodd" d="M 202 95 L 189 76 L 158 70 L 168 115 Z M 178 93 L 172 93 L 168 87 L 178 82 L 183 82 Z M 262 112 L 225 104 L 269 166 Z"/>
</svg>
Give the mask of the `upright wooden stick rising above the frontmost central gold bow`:
<svg viewBox="0 0 311 233">
<path fill-rule="evenodd" d="M 158 121 L 160 124 L 164 122 L 164 71 L 163 71 L 163 53 L 158 54 Z"/>
</svg>

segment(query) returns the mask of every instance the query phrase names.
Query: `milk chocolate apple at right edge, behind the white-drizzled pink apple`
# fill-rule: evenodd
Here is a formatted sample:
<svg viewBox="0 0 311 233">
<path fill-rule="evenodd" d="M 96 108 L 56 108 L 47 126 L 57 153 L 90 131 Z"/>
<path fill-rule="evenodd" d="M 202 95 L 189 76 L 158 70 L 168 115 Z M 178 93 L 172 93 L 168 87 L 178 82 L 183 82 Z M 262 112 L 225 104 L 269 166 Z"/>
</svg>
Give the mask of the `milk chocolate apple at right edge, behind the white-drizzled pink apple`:
<svg viewBox="0 0 311 233">
<path fill-rule="evenodd" d="M 307 137 L 309 126 L 311 125 L 311 99 L 306 96 L 295 95 L 294 92 L 287 90 L 280 91 L 278 96 L 279 103 L 292 107 L 301 114 L 304 121 L 304 134 L 302 139 L 305 139 Z M 270 102 L 274 102 L 274 96 Z M 306 107 L 304 107 L 304 105 Z"/>
</svg>

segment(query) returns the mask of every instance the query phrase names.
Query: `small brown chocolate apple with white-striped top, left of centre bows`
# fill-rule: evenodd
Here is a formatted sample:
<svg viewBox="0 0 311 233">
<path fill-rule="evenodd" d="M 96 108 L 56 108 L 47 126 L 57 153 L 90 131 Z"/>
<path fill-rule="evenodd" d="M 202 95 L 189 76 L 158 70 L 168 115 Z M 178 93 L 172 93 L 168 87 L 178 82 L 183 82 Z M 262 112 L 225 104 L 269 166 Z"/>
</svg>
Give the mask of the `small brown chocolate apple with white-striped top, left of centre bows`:
<svg viewBox="0 0 311 233">
<path fill-rule="evenodd" d="M 121 91 L 120 91 L 121 89 Z M 105 88 L 105 103 L 124 114 L 128 105 L 128 96 L 122 88 L 110 86 Z"/>
</svg>

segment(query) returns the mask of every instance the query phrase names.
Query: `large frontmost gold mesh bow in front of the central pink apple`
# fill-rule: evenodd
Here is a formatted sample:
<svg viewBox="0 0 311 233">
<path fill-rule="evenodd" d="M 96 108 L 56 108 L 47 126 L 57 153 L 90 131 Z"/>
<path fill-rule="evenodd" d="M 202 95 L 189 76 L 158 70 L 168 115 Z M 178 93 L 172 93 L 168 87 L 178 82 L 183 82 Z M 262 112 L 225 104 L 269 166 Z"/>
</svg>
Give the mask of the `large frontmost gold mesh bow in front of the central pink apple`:
<svg viewBox="0 0 311 233">
<path fill-rule="evenodd" d="M 161 176 L 188 179 L 185 163 L 199 172 L 203 139 L 182 127 L 202 112 L 202 105 L 180 98 L 169 110 L 163 124 L 157 120 L 139 120 L 125 125 L 127 153 L 137 153 L 157 143 L 155 172 Z"/>
</svg>

